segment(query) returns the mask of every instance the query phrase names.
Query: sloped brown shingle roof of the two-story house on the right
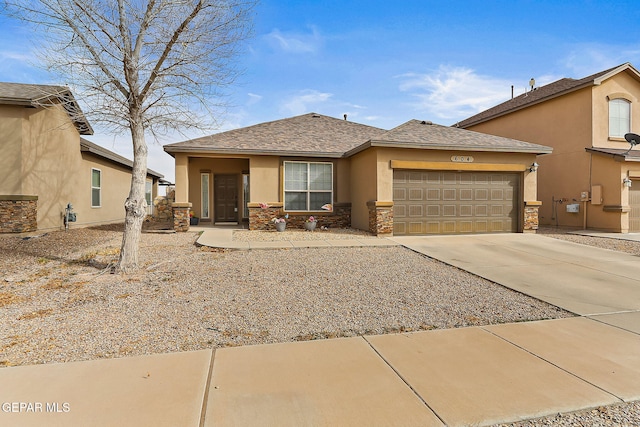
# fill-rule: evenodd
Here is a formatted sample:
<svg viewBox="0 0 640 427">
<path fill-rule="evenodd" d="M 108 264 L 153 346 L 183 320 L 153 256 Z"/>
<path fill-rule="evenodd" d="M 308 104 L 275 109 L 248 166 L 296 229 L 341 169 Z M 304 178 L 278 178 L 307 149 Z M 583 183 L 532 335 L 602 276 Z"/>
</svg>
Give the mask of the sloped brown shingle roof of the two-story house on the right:
<svg viewBox="0 0 640 427">
<path fill-rule="evenodd" d="M 560 95 L 564 95 L 569 92 L 573 92 L 578 89 L 582 89 L 584 87 L 593 86 L 598 84 L 600 79 L 606 77 L 610 73 L 617 74 L 618 72 L 631 69 L 638 73 L 631 64 L 624 63 L 622 65 L 618 65 L 617 67 L 609 68 L 608 70 L 601 71 L 596 74 L 592 74 L 590 76 L 584 77 L 582 79 L 570 79 L 563 78 L 553 83 L 549 83 L 548 85 L 541 86 L 533 91 L 529 91 L 520 96 L 517 96 L 509 101 L 503 102 L 502 104 L 498 104 L 495 107 L 491 107 L 488 110 L 482 111 L 475 116 L 471 116 L 467 119 L 458 122 L 454 126 L 467 128 L 473 125 L 477 125 L 478 123 L 482 123 L 484 121 L 511 113 L 516 110 L 520 110 L 531 105 L 535 105 L 537 103 L 546 101 L 551 98 L 555 98 Z"/>
</svg>

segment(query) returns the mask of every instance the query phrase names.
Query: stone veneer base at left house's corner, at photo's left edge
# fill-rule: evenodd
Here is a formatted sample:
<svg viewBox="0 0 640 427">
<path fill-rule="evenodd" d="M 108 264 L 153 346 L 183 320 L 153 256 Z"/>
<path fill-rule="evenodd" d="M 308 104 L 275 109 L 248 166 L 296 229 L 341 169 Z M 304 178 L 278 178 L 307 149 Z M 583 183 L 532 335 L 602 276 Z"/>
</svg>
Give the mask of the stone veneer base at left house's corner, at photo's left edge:
<svg viewBox="0 0 640 427">
<path fill-rule="evenodd" d="M 0 233 L 38 229 L 38 196 L 0 195 Z"/>
</svg>

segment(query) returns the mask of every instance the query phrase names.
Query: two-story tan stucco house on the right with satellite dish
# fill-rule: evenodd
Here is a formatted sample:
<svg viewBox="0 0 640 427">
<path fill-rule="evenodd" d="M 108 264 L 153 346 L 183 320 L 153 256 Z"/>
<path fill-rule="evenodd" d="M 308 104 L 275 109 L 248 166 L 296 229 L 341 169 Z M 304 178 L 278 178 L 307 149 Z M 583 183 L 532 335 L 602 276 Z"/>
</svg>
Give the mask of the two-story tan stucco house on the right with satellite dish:
<svg viewBox="0 0 640 427">
<path fill-rule="evenodd" d="M 640 232 L 640 73 L 626 63 L 535 88 L 458 123 L 553 147 L 540 158 L 540 222 Z"/>
</svg>

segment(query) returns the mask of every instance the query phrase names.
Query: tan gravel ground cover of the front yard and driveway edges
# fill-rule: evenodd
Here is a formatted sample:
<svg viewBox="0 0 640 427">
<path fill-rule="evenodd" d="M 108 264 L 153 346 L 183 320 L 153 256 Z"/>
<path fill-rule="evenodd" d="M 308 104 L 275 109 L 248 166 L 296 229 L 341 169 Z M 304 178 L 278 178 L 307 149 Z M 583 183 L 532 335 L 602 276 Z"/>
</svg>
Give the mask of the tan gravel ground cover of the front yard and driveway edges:
<svg viewBox="0 0 640 427">
<path fill-rule="evenodd" d="M 198 247 L 194 232 L 146 232 L 140 271 L 110 274 L 121 229 L 0 235 L 0 367 L 571 316 L 401 247 L 228 251 Z M 234 239 L 292 235 L 376 238 Z M 639 242 L 622 245 L 640 254 Z M 636 402 L 509 425 L 639 425 L 639 414 Z"/>
</svg>

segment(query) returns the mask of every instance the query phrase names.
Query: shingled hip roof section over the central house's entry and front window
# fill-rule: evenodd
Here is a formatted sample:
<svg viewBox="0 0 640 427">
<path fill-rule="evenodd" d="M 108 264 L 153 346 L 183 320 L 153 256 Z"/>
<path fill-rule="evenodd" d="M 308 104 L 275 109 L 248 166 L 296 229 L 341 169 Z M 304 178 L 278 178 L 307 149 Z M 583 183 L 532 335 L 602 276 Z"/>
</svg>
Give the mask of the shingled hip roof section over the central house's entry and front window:
<svg viewBox="0 0 640 427">
<path fill-rule="evenodd" d="M 164 146 L 167 153 L 304 155 L 341 157 L 385 132 L 316 113 L 221 132 Z"/>
</svg>

